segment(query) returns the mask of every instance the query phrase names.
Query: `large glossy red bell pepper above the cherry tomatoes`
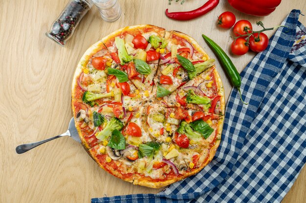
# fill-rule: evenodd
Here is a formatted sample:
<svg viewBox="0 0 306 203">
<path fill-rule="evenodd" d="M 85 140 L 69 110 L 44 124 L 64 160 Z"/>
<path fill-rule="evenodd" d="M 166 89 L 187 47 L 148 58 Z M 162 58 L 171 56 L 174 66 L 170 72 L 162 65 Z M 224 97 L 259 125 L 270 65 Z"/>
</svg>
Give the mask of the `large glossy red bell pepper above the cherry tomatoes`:
<svg viewBox="0 0 306 203">
<path fill-rule="evenodd" d="M 267 16 L 282 0 L 228 0 L 229 4 L 242 13 L 252 16 Z"/>
</svg>

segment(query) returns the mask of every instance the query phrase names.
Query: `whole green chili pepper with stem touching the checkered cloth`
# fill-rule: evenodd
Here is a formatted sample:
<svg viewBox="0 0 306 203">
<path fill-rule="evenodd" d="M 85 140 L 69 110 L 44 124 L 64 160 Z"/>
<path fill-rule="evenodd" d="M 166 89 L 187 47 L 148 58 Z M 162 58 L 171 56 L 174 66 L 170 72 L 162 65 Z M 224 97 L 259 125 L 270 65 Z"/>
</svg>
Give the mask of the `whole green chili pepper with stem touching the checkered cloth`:
<svg viewBox="0 0 306 203">
<path fill-rule="evenodd" d="M 223 68 L 225 69 L 226 73 L 231 79 L 233 86 L 238 89 L 242 103 L 246 105 L 249 104 L 242 100 L 241 91 L 240 91 L 240 85 L 241 85 L 240 74 L 238 73 L 231 59 L 228 57 L 228 55 L 225 54 L 225 52 L 219 47 L 219 45 L 216 42 L 214 42 L 212 39 L 208 38 L 205 35 L 202 35 L 202 37 L 206 41 L 206 43 L 210 46 L 210 48 L 212 48 L 215 54 L 218 56 Z"/>
</svg>

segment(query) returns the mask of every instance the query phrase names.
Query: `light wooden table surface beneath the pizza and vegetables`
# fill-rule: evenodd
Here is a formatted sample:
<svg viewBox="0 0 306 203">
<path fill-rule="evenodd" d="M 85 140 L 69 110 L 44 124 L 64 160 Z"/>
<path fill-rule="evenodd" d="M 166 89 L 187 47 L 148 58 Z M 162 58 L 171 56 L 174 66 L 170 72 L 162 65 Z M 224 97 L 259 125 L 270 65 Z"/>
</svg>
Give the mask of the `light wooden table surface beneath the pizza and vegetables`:
<svg viewBox="0 0 306 203">
<path fill-rule="evenodd" d="M 15 152 L 23 143 L 43 140 L 66 131 L 71 118 L 71 81 L 75 67 L 87 48 L 121 27 L 153 24 L 194 37 L 211 57 L 201 34 L 213 38 L 228 52 L 230 30 L 219 29 L 216 19 L 232 11 L 237 19 L 266 27 L 279 25 L 291 9 L 306 14 L 305 0 L 283 0 L 269 17 L 243 15 L 226 0 L 209 14 L 191 21 L 174 21 L 164 11 L 191 10 L 205 0 L 185 0 L 168 5 L 168 0 L 119 0 L 121 17 L 112 23 L 100 18 L 96 8 L 81 21 L 66 47 L 45 37 L 45 32 L 68 0 L 0 0 L 0 203 L 89 203 L 91 198 L 136 193 L 157 193 L 160 189 L 135 186 L 101 169 L 74 140 L 64 137 L 22 155 Z M 306 17 L 300 16 L 306 24 Z M 254 26 L 256 28 L 256 25 Z M 270 37 L 274 31 L 266 34 Z M 232 56 L 241 71 L 255 56 Z M 231 86 L 217 65 L 226 98 Z M 297 178 L 283 203 L 306 202 L 306 168 Z"/>
</svg>

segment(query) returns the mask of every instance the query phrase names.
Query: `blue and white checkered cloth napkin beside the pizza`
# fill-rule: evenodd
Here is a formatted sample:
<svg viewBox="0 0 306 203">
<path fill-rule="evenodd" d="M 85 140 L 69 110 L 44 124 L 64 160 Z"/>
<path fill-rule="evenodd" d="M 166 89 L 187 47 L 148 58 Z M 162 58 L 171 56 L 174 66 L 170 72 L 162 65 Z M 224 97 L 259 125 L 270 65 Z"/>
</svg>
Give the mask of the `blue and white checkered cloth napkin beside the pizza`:
<svg viewBox="0 0 306 203">
<path fill-rule="evenodd" d="M 306 162 L 306 28 L 293 10 L 233 89 L 215 159 L 162 192 L 91 203 L 281 202 Z"/>
</svg>

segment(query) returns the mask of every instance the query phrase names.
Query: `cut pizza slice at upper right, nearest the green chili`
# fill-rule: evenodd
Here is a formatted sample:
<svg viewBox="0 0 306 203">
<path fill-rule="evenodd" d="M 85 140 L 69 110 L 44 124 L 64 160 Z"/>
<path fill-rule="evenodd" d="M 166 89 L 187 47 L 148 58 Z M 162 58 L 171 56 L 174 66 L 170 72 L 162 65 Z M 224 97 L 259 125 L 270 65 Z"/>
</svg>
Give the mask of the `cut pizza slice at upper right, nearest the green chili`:
<svg viewBox="0 0 306 203">
<path fill-rule="evenodd" d="M 166 32 L 165 38 L 168 44 L 165 54 L 161 55 L 157 74 L 154 77 L 157 97 L 174 92 L 208 67 L 213 66 L 215 61 L 209 58 L 193 38 L 183 33 Z"/>
</svg>

